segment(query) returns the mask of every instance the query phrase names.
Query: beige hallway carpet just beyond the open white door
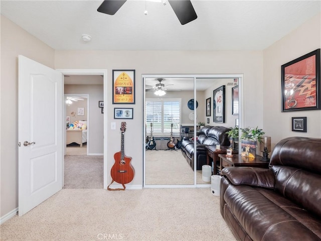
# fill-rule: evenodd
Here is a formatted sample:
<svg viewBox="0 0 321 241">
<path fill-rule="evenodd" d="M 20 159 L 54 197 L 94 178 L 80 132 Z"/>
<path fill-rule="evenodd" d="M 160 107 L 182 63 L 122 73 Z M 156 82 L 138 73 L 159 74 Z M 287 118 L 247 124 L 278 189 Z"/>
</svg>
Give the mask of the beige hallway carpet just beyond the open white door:
<svg viewBox="0 0 321 241">
<path fill-rule="evenodd" d="M 65 156 L 64 188 L 103 188 L 103 156 Z"/>
</svg>

